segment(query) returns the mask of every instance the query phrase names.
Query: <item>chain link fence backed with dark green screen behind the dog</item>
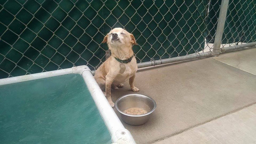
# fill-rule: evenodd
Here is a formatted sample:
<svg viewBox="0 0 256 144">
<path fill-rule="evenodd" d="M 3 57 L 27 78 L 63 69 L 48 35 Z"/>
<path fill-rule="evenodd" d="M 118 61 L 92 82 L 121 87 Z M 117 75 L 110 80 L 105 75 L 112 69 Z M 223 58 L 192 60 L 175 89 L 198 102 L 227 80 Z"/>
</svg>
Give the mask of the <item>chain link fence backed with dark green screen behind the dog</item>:
<svg viewBox="0 0 256 144">
<path fill-rule="evenodd" d="M 80 65 L 94 70 L 106 59 L 108 48 L 101 41 L 115 27 L 134 34 L 138 63 L 211 51 L 220 4 L 220 0 L 1 0 L 0 78 Z M 255 1 L 234 0 L 229 7 L 223 43 L 255 41 Z M 249 19 L 240 21 L 242 16 Z"/>
</svg>

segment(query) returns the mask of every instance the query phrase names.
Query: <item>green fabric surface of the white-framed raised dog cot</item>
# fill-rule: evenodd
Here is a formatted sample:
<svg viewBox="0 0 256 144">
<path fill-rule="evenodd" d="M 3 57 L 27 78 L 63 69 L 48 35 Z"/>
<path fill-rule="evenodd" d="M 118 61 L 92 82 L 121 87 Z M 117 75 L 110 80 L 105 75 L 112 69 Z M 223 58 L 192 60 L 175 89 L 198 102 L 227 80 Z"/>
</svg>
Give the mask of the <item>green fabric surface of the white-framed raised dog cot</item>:
<svg viewBox="0 0 256 144">
<path fill-rule="evenodd" d="M 78 74 L 0 86 L 0 143 L 111 143 Z"/>
</svg>

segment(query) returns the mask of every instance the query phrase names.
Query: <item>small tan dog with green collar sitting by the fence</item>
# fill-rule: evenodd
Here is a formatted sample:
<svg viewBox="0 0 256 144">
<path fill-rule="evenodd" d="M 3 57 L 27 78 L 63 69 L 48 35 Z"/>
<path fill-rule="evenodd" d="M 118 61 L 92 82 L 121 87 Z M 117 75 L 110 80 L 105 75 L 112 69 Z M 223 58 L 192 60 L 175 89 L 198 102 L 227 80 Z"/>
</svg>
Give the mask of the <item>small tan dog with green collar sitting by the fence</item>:
<svg viewBox="0 0 256 144">
<path fill-rule="evenodd" d="M 111 56 L 95 71 L 94 78 L 101 90 L 106 91 L 106 97 L 111 105 L 111 88 L 123 87 L 123 82 L 129 79 L 130 87 L 134 92 L 139 91 L 133 84 L 138 69 L 132 46 L 137 45 L 133 34 L 122 28 L 114 28 L 105 37 L 102 43 L 107 42 Z"/>
</svg>

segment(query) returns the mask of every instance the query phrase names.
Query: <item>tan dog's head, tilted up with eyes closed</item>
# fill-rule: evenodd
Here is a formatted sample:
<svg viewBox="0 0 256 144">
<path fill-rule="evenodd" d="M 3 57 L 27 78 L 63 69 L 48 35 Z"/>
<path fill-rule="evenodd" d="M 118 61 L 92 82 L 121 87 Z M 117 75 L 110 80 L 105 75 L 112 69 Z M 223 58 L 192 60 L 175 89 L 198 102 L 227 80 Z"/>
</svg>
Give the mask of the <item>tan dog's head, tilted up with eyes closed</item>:
<svg viewBox="0 0 256 144">
<path fill-rule="evenodd" d="M 105 37 L 102 43 L 107 42 L 109 46 L 122 46 L 122 45 L 138 45 L 133 34 L 128 33 L 122 28 L 112 29 Z"/>
</svg>

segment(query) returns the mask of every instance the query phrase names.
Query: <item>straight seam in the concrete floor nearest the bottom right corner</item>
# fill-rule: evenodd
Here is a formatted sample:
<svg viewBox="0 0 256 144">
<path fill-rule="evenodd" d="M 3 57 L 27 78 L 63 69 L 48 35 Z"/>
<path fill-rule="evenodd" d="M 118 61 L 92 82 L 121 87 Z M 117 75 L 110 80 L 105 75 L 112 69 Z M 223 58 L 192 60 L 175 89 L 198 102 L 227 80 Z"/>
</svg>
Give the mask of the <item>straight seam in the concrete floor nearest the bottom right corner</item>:
<svg viewBox="0 0 256 144">
<path fill-rule="evenodd" d="M 200 125 L 203 125 L 203 124 L 206 124 L 206 123 L 215 121 L 215 120 L 218 119 L 218 118 L 221 118 L 221 117 L 224 117 L 224 116 L 233 114 L 233 113 L 235 113 L 235 112 L 237 112 L 237 111 L 240 111 L 240 110 L 242 110 L 242 109 L 244 109 L 244 108 L 248 108 L 248 107 L 250 107 L 250 106 L 252 106 L 252 105 L 254 105 L 254 104 L 256 104 L 256 102 L 251 103 L 251 104 L 249 104 L 249 105 L 245 105 L 244 107 L 241 107 L 241 108 L 239 108 L 239 109 L 230 111 L 230 112 L 228 112 L 228 113 L 226 113 L 226 114 L 217 116 L 217 117 L 215 117 L 215 118 L 213 118 L 213 119 L 210 119 L 210 120 L 208 120 L 208 121 L 206 121 L 206 122 L 202 122 L 202 123 L 196 124 L 196 125 L 194 125 L 194 126 L 191 126 L 191 127 L 187 128 L 187 129 L 183 129 L 183 130 L 181 130 L 181 131 L 175 132 L 175 133 L 173 133 L 173 134 L 171 134 L 171 135 L 169 135 L 169 136 L 166 136 L 166 137 L 162 137 L 162 138 L 160 138 L 160 139 L 153 140 L 153 141 L 151 141 L 151 142 L 149 142 L 149 143 L 152 144 L 152 143 L 160 142 L 160 141 L 162 141 L 162 140 L 164 140 L 164 139 L 167 139 L 167 138 L 176 136 L 176 135 L 178 135 L 178 134 L 180 134 L 180 133 L 186 132 L 186 131 L 188 131 L 188 130 L 194 129 L 194 128 L 200 126 Z"/>
</svg>

